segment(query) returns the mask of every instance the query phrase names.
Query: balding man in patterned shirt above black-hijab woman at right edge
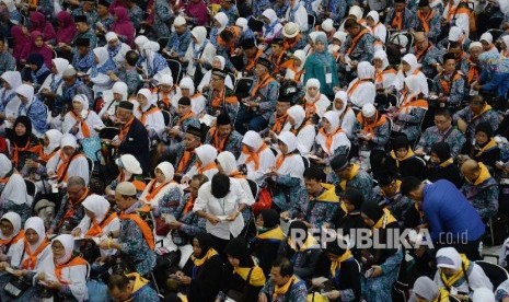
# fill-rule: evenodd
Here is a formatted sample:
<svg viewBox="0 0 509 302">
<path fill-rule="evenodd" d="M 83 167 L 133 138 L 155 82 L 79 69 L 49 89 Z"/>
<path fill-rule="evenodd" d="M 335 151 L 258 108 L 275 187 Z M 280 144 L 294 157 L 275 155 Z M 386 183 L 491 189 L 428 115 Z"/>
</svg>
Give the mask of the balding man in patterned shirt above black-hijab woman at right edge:
<svg viewBox="0 0 509 302">
<path fill-rule="evenodd" d="M 474 139 L 475 128 L 481 123 L 489 123 L 494 131 L 500 125 L 497 112 L 481 95 L 472 96 L 468 106 L 455 113 L 452 118 L 454 124 L 458 125 L 458 129 L 465 135 L 468 141 Z"/>
</svg>

